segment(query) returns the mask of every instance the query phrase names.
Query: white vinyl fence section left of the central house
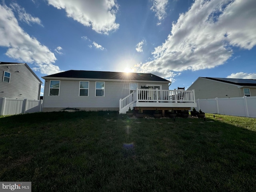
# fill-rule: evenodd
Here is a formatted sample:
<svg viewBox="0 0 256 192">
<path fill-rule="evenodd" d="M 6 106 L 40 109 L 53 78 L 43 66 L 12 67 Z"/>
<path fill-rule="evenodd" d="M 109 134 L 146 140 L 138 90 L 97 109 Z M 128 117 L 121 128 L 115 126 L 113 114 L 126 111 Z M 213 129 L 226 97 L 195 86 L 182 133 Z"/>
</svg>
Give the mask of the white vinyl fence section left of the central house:
<svg viewBox="0 0 256 192">
<path fill-rule="evenodd" d="M 42 104 L 42 100 L 0 97 L 0 115 L 41 112 Z"/>
</svg>

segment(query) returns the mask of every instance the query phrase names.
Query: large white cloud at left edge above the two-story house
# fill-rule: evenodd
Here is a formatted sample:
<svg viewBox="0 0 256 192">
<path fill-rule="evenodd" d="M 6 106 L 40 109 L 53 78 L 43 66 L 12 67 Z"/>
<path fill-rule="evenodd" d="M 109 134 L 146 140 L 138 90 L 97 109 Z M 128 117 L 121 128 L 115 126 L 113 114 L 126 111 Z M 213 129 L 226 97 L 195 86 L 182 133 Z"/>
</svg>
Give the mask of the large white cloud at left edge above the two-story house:
<svg viewBox="0 0 256 192">
<path fill-rule="evenodd" d="M 10 8 L 0 4 L 0 13 L 0 46 L 8 48 L 8 57 L 20 62 L 35 63 L 38 67 L 34 70 L 42 74 L 60 72 L 60 68 L 52 64 L 56 60 L 54 53 L 20 28 Z"/>
</svg>

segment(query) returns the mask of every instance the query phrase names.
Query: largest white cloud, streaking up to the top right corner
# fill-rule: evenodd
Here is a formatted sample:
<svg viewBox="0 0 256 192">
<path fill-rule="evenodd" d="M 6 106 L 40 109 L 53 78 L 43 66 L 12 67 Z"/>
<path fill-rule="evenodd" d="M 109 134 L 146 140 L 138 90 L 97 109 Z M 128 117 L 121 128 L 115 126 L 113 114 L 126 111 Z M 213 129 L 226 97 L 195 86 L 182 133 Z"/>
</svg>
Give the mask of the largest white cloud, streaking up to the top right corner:
<svg viewBox="0 0 256 192">
<path fill-rule="evenodd" d="M 224 64 L 232 46 L 250 50 L 256 45 L 254 0 L 195 0 L 180 14 L 166 41 L 155 48 L 154 60 L 137 71 L 160 72 L 201 70 Z"/>
</svg>

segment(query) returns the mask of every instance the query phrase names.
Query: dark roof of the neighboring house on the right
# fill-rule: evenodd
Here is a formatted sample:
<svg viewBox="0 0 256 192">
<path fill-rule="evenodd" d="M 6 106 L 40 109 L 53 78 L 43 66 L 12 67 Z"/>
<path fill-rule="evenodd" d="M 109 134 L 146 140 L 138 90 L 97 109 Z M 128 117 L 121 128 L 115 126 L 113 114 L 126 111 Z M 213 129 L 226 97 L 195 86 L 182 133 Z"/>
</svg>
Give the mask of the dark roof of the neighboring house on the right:
<svg viewBox="0 0 256 192">
<path fill-rule="evenodd" d="M 240 86 L 256 86 L 256 79 L 236 79 L 236 78 L 212 78 L 204 77 L 206 79 L 216 80 L 220 82 L 240 85 Z"/>
</svg>

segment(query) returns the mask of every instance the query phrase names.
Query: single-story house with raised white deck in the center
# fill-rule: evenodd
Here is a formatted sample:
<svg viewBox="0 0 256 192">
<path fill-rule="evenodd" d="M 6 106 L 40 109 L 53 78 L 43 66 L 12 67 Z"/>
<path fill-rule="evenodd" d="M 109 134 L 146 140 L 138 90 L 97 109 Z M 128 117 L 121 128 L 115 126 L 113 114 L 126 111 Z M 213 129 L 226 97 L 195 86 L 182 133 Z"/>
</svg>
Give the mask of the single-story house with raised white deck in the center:
<svg viewBox="0 0 256 192">
<path fill-rule="evenodd" d="M 69 70 L 42 78 L 44 112 L 77 108 L 125 113 L 129 107 L 164 112 L 196 106 L 193 91 L 169 90 L 171 82 L 154 74 Z"/>
</svg>

